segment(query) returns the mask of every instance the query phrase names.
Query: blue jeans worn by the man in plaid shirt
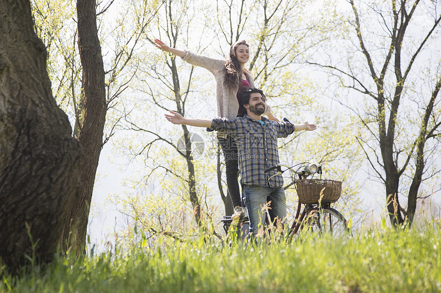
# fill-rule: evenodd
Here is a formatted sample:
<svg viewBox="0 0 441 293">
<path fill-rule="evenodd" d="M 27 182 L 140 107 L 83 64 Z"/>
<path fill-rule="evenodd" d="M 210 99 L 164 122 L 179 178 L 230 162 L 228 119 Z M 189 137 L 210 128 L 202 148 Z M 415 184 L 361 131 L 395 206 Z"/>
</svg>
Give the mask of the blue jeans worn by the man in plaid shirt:
<svg viewBox="0 0 441 293">
<path fill-rule="evenodd" d="M 265 226 L 266 209 L 263 208 L 268 201 L 271 201 L 268 209 L 271 221 L 274 222 L 278 217 L 283 224 L 286 223 L 286 196 L 283 187 L 245 185 L 243 195 L 250 219 L 250 234 L 253 236 Z"/>
</svg>

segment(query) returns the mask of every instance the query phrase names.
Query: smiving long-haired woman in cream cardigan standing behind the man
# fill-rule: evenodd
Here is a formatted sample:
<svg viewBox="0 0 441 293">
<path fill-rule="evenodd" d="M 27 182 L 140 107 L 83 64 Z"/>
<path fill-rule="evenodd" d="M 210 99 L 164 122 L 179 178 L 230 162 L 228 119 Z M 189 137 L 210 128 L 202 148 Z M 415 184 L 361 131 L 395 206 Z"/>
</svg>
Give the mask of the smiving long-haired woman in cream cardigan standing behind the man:
<svg viewBox="0 0 441 293">
<path fill-rule="evenodd" d="M 237 41 L 231 45 L 227 60 L 171 48 L 159 39 L 155 39 L 155 43 L 157 48 L 179 56 L 192 65 L 204 67 L 214 75 L 218 117 L 233 119 L 246 114 L 246 110 L 239 102 L 238 97 L 244 88 L 254 88 L 255 86 L 252 75 L 245 69 L 245 63 L 250 59 L 249 46 L 245 40 Z M 264 115 L 267 115 L 271 120 L 278 121 L 272 115 L 271 108 L 268 105 Z M 217 139 L 224 152 L 227 188 L 234 207 L 232 217 L 245 216 L 246 209 L 241 200 L 239 183 L 237 182 L 239 162 L 236 143 L 232 137 L 226 134 L 218 133 Z"/>
</svg>

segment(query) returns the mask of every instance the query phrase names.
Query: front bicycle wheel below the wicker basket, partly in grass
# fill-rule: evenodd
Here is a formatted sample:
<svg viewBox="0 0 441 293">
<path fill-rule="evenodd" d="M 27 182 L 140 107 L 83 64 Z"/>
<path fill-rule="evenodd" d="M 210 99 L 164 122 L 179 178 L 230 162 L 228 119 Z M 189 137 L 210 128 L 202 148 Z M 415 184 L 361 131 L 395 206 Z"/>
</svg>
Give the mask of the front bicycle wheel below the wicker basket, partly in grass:
<svg viewBox="0 0 441 293">
<path fill-rule="evenodd" d="M 345 217 L 333 208 L 317 209 L 308 215 L 304 221 L 306 232 L 325 235 L 333 239 L 352 237 Z"/>
</svg>

